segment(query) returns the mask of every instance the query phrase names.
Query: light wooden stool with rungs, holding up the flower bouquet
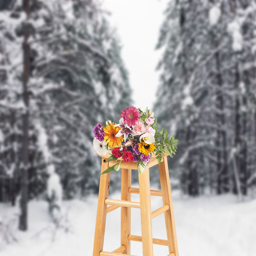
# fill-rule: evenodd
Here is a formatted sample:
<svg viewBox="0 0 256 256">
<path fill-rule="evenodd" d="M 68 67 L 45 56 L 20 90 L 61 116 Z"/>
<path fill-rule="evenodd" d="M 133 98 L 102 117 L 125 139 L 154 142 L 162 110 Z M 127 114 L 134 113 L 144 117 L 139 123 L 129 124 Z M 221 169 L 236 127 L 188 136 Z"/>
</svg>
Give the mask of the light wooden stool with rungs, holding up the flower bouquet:
<svg viewBox="0 0 256 256">
<path fill-rule="evenodd" d="M 158 164 L 155 155 L 151 156 L 150 163 L 145 168 L 144 172 L 139 174 L 139 188 L 131 187 L 131 170 L 138 169 L 137 163 L 125 163 L 124 161 L 121 161 L 121 200 L 108 199 L 110 172 L 100 176 L 99 199 L 92 256 L 132 256 L 130 255 L 131 240 L 142 242 L 143 256 L 153 256 L 153 244 L 168 246 L 170 253 L 168 256 L 179 256 L 167 155 L 168 154 L 164 155 L 161 164 L 158 165 L 161 191 L 150 190 L 149 186 L 149 167 Z M 109 156 L 110 155 L 101 156 L 101 173 L 108 167 L 117 163 L 116 161 L 106 162 Z M 118 158 L 117 160 L 120 162 L 120 159 Z M 140 194 L 140 202 L 132 202 L 131 193 Z M 154 212 L 151 212 L 150 195 L 162 196 L 163 198 L 163 206 Z M 110 206 L 107 207 L 108 204 Z M 120 206 L 121 246 L 112 252 L 103 252 L 106 215 Z M 140 208 L 141 236 L 131 235 L 131 207 Z M 151 220 L 162 212 L 164 212 L 167 240 L 152 237 Z"/>
</svg>

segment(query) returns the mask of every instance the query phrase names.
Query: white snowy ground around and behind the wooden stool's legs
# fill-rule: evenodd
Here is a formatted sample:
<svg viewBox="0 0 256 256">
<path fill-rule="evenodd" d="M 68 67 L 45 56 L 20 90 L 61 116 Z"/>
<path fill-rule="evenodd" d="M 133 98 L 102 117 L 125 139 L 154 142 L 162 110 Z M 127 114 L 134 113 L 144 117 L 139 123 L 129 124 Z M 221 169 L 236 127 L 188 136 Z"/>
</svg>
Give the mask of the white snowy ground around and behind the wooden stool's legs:
<svg viewBox="0 0 256 256">
<path fill-rule="evenodd" d="M 254 256 L 256 255 L 256 201 L 237 203 L 233 196 L 180 198 L 173 191 L 173 205 L 180 256 Z M 110 198 L 120 199 L 115 193 Z M 139 201 L 133 194 L 132 201 Z M 152 211 L 161 206 L 161 198 L 151 196 Z M 50 222 L 47 203 L 29 203 L 29 231 L 13 232 L 17 242 L 6 244 L 0 237 L 1 256 L 91 256 L 97 209 L 97 196 L 86 201 L 65 201 L 68 220 L 56 231 Z M 17 210 L 0 204 L 2 221 Z M 113 225 L 114 224 L 114 225 Z M 16 223 L 13 223 L 16 227 Z M 153 219 L 153 237 L 166 239 L 164 215 Z M 2 227 L 3 228 L 3 227 Z M 1 230 L 1 226 L 0 226 Z M 104 250 L 120 246 L 120 208 L 107 215 Z M 0 231 L 1 233 L 1 231 Z M 12 233 L 12 232 L 11 232 Z M 132 234 L 141 235 L 140 210 L 132 208 Z M 11 240 L 11 239 L 10 239 Z M 140 242 L 131 242 L 132 255 L 142 255 Z M 166 246 L 154 245 L 155 256 L 168 255 Z"/>
</svg>

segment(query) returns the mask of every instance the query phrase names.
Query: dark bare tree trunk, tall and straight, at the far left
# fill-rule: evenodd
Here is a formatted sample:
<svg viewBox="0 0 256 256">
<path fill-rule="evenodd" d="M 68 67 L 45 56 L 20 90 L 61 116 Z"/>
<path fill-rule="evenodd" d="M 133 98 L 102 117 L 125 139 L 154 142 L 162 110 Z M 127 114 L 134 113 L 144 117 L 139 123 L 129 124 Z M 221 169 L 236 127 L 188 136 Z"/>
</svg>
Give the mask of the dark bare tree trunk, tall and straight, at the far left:
<svg viewBox="0 0 256 256">
<path fill-rule="evenodd" d="M 23 0 L 23 10 L 29 18 L 29 0 Z M 29 27 L 27 24 L 24 25 L 24 43 L 23 43 L 23 101 L 26 106 L 26 110 L 22 116 L 22 162 L 23 170 L 21 174 L 21 198 L 20 198 L 20 220 L 19 229 L 28 229 L 28 122 L 29 122 L 29 95 L 28 95 L 28 79 L 29 79 Z"/>
</svg>

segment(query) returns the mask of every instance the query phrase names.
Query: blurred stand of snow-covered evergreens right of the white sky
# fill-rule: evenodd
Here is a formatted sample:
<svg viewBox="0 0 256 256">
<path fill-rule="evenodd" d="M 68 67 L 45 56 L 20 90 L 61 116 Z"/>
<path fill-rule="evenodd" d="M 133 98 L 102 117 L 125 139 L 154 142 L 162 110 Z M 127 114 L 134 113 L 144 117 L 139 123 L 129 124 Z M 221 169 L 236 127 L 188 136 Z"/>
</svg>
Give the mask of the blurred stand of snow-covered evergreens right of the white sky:
<svg viewBox="0 0 256 256">
<path fill-rule="evenodd" d="M 179 139 L 176 166 L 190 195 L 205 185 L 246 194 L 248 141 L 255 141 L 254 5 L 180 0 L 166 9 L 155 108 Z"/>
</svg>

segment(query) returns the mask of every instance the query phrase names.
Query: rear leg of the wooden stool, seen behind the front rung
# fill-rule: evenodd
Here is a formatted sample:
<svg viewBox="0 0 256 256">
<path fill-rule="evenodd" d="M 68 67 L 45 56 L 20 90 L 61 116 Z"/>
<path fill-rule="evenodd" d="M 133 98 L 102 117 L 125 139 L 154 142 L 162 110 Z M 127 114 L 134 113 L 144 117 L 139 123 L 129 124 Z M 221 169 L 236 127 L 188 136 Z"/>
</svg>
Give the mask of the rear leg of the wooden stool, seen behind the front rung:
<svg viewBox="0 0 256 256">
<path fill-rule="evenodd" d="M 131 169 L 121 169 L 121 200 L 131 201 L 131 193 L 128 189 L 131 187 Z M 126 250 L 122 253 L 131 254 L 131 241 L 128 240 L 131 235 L 131 207 L 121 206 L 121 246 L 125 245 Z"/>
</svg>

